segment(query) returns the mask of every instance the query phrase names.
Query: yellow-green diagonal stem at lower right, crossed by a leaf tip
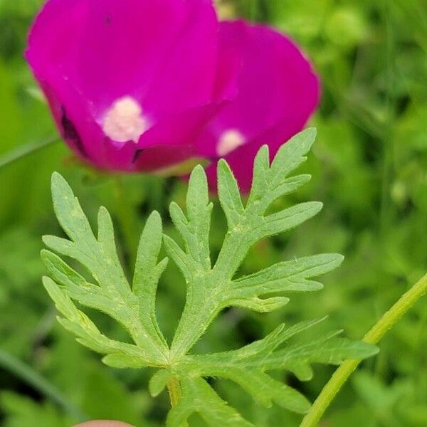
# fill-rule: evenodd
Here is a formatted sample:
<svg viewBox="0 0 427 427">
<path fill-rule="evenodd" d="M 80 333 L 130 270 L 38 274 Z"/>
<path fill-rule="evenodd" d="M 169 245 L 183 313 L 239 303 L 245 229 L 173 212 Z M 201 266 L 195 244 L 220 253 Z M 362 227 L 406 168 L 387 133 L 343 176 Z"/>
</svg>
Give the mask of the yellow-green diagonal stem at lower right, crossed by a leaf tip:
<svg viewBox="0 0 427 427">
<path fill-rule="evenodd" d="M 384 334 L 394 326 L 394 324 L 415 304 L 419 298 L 427 293 L 427 274 L 423 276 L 413 287 L 406 292 L 379 322 L 364 336 L 363 341 L 369 344 L 376 344 L 384 337 Z M 315 427 L 322 418 L 328 406 L 334 400 L 338 391 L 347 381 L 349 376 L 362 362 L 361 360 L 349 360 L 339 367 L 330 381 L 326 384 L 320 395 L 317 397 L 311 410 L 302 420 L 300 427 Z"/>
</svg>

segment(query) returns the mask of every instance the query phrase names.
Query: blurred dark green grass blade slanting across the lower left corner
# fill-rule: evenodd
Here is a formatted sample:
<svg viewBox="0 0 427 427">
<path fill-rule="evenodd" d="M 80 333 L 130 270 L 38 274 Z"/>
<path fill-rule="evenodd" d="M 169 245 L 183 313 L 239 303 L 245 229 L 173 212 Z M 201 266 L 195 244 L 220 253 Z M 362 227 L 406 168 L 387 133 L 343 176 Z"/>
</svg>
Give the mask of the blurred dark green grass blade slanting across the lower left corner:
<svg viewBox="0 0 427 427">
<path fill-rule="evenodd" d="M 62 407 L 66 413 L 75 419 L 75 421 L 80 422 L 88 420 L 88 416 L 82 413 L 72 402 L 68 401 L 56 386 L 43 378 L 43 376 L 38 374 L 33 368 L 2 349 L 0 349 L 0 367 L 6 371 L 12 372 L 22 381 L 25 381 L 48 399 L 58 404 L 58 406 Z"/>
</svg>

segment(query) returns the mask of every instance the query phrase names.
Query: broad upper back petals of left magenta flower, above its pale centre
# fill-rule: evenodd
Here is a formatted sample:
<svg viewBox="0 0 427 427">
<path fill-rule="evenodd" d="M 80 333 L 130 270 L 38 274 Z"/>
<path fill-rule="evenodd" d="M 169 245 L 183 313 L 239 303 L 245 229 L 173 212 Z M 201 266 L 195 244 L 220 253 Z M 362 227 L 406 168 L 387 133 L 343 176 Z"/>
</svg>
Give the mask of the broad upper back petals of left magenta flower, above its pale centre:
<svg viewBox="0 0 427 427">
<path fill-rule="evenodd" d="M 185 94 L 189 107 L 211 99 L 217 25 L 210 0 L 50 0 L 27 58 L 36 73 L 65 78 L 101 110 L 124 95 L 167 110 Z M 170 97 L 159 102 L 159 89 Z"/>
</svg>

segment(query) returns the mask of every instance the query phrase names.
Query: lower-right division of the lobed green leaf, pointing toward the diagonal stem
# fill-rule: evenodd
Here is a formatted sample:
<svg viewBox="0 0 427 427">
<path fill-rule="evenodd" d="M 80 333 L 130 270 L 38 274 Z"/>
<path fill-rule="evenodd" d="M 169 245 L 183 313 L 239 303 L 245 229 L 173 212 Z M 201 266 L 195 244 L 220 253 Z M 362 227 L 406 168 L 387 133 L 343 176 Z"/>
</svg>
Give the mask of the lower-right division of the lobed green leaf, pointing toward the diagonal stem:
<svg viewBox="0 0 427 427">
<path fill-rule="evenodd" d="M 314 327 L 322 320 L 301 322 L 290 328 L 280 325 L 264 339 L 231 352 L 187 356 L 175 367 L 176 372 L 183 376 L 231 379 L 264 406 L 271 406 L 274 401 L 290 411 L 305 413 L 310 409 L 307 399 L 265 371 L 286 369 L 300 379 L 310 379 L 311 363 L 340 364 L 344 359 L 363 359 L 377 352 L 371 344 L 336 338 L 338 332 L 282 348 L 295 334 Z"/>
</svg>

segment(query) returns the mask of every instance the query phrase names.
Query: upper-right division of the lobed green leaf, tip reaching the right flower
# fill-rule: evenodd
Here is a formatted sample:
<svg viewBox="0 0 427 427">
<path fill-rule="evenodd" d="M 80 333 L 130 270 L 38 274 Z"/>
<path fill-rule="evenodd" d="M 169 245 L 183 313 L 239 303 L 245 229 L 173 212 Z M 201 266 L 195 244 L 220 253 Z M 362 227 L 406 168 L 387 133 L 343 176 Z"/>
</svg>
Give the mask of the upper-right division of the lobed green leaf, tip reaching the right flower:
<svg viewBox="0 0 427 427">
<path fill-rule="evenodd" d="M 321 203 L 309 202 L 266 215 L 275 199 L 295 191 L 310 179 L 307 175 L 291 178 L 288 175 L 305 161 L 305 154 L 314 139 L 315 130 L 297 135 L 279 150 L 271 166 L 268 149 L 260 149 L 255 159 L 253 191 L 246 207 L 243 206 L 231 169 L 223 160 L 218 162 L 218 197 L 228 221 L 228 233 L 215 265 L 211 265 L 209 253 L 211 205 L 206 175 L 201 167 L 194 169 L 189 181 L 186 214 L 176 204 L 172 204 L 170 209 L 172 220 L 184 240 L 184 248 L 171 238 L 164 238 L 165 248 L 183 272 L 187 285 L 186 305 L 172 342 L 172 357 L 181 357 L 189 352 L 224 307 L 233 305 L 257 312 L 270 312 L 288 303 L 288 297 L 263 298 L 268 293 L 293 291 L 292 286 L 290 289 L 281 287 L 280 280 L 276 280 L 270 290 L 263 292 L 263 283 L 258 288 L 249 285 L 246 289 L 242 286 L 239 288 L 241 283 L 236 286 L 233 276 L 255 243 L 295 228 L 322 209 Z M 342 260 L 334 258 L 331 261 L 330 270 L 339 259 Z M 330 270 L 325 268 L 324 273 Z M 319 271 L 318 274 L 322 274 L 322 270 Z M 268 274 L 266 271 L 265 275 Z M 316 286 L 309 282 L 305 284 Z"/>
</svg>

